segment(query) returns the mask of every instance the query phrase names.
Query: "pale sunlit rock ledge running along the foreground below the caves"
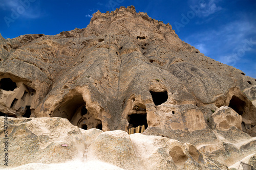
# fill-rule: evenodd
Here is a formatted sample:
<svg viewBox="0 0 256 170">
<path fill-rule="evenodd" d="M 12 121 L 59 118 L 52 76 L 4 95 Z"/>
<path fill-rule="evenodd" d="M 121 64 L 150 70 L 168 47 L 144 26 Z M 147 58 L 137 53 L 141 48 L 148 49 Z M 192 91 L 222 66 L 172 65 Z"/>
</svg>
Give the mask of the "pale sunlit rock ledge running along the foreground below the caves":
<svg viewBox="0 0 256 170">
<path fill-rule="evenodd" d="M 60 117 L 8 117 L 8 125 L 8 168 L 65 169 L 78 163 L 91 169 L 227 169 L 194 145 L 166 137 L 83 130 Z M 0 136 L 0 147 L 4 147 L 3 127 Z"/>
</svg>

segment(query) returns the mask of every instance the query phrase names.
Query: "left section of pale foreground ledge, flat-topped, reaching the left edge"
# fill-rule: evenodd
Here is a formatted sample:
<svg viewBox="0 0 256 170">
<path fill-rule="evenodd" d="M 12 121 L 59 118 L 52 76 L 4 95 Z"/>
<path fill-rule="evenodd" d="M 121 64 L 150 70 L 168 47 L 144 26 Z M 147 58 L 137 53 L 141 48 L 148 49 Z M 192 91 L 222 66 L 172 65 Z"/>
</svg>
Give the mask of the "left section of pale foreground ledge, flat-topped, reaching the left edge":
<svg viewBox="0 0 256 170">
<path fill-rule="evenodd" d="M 0 117 L 4 125 L 4 117 Z M 4 148 L 4 127 L 0 130 L 0 147 Z M 8 167 L 28 163 L 61 163 L 82 159 L 86 144 L 79 128 L 67 119 L 8 117 Z M 67 144 L 67 147 L 61 147 Z M 3 153 L 3 152 L 2 152 Z M 3 164 L 1 168 L 5 167 Z"/>
</svg>

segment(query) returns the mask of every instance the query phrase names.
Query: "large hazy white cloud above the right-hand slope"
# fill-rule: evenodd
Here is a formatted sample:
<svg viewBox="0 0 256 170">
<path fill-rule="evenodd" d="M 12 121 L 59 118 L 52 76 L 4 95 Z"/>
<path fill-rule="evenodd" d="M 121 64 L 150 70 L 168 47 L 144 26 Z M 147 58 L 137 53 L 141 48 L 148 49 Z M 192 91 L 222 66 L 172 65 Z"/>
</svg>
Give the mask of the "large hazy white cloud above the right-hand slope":
<svg viewBox="0 0 256 170">
<path fill-rule="evenodd" d="M 210 58 L 236 66 L 241 62 L 249 62 L 245 56 L 255 53 L 256 42 L 251 38 L 253 35 L 253 23 L 242 17 L 217 29 L 193 34 L 185 41 Z"/>
</svg>

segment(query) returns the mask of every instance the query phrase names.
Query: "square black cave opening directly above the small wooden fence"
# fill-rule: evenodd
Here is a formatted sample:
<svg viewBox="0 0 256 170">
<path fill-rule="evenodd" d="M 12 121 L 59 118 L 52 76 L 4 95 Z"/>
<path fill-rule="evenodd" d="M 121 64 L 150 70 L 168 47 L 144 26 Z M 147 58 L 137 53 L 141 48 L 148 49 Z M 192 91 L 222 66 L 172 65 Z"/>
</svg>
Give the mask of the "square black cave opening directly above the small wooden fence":
<svg viewBox="0 0 256 170">
<path fill-rule="evenodd" d="M 146 113 L 128 115 L 127 120 L 129 122 L 129 127 L 128 128 L 138 127 L 140 125 L 144 125 L 145 129 L 147 128 Z"/>
</svg>

